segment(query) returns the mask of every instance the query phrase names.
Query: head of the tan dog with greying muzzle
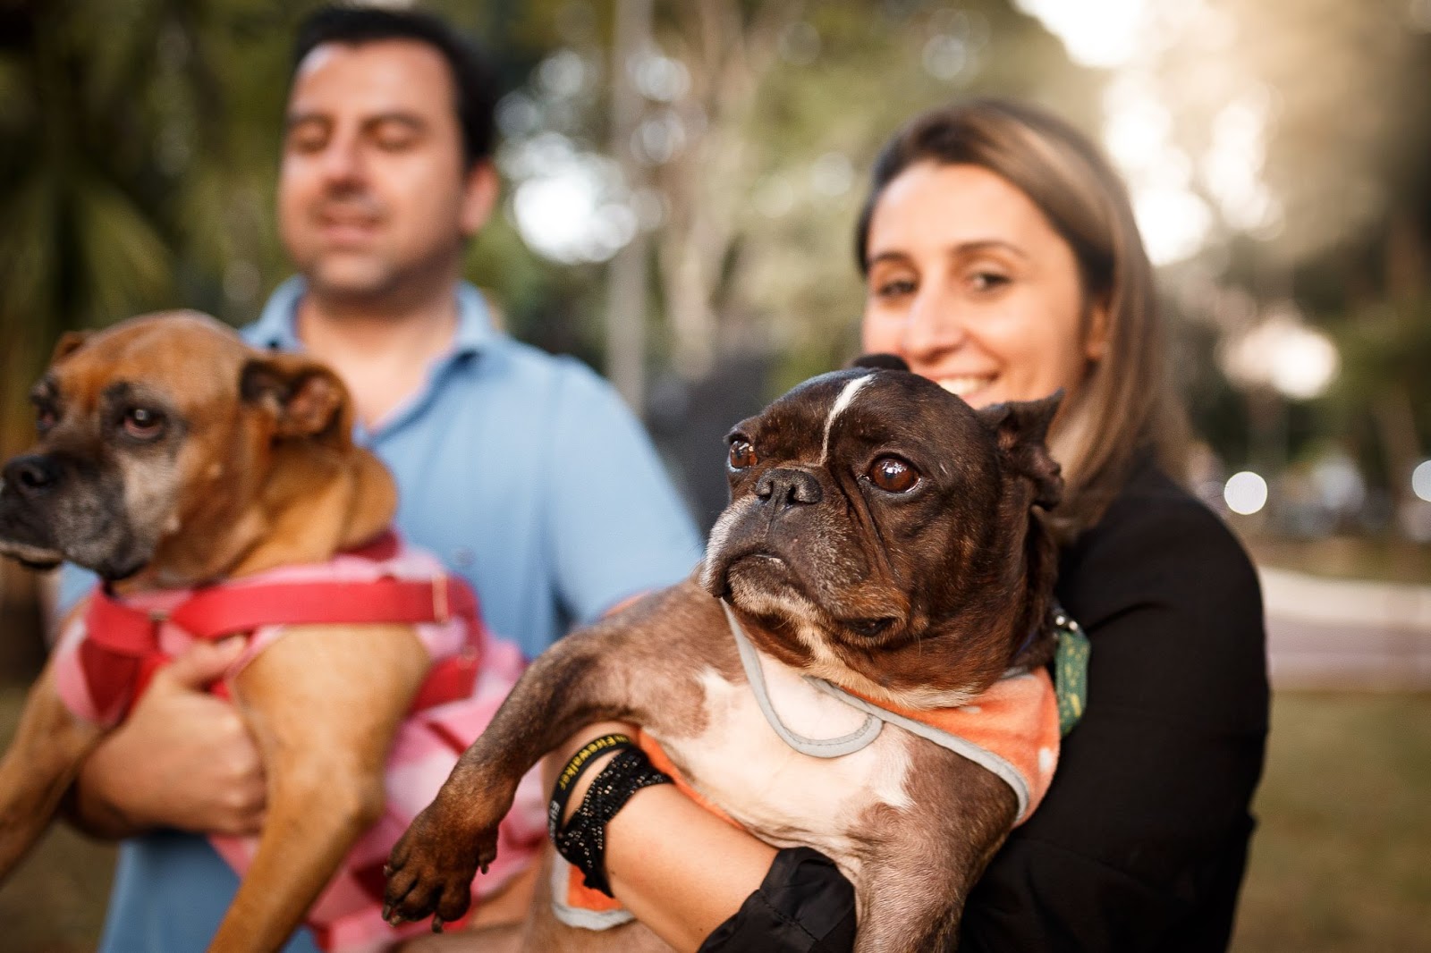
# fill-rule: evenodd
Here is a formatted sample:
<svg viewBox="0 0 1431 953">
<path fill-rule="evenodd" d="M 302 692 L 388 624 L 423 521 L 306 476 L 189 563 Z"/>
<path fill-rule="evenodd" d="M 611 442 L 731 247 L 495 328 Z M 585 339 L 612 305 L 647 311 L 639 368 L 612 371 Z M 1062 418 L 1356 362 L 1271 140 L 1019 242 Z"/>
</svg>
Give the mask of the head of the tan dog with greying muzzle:
<svg viewBox="0 0 1431 953">
<path fill-rule="evenodd" d="M 39 442 L 4 466 L 0 554 L 123 580 L 193 522 L 222 559 L 290 409 L 345 425 L 336 379 L 278 382 L 285 359 L 196 313 L 67 336 L 31 391 Z"/>
</svg>

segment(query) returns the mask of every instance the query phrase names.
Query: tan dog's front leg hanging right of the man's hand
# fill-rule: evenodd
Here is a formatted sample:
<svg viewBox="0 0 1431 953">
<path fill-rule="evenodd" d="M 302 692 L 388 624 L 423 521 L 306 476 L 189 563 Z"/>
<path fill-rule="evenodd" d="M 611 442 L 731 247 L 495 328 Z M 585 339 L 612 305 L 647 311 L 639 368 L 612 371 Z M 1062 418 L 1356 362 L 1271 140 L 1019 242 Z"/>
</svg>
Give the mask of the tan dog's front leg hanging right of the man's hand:
<svg viewBox="0 0 1431 953">
<path fill-rule="evenodd" d="M 268 773 L 253 863 L 210 950 L 276 950 L 382 814 L 394 734 L 426 671 L 405 625 L 292 627 L 236 680 Z"/>
</svg>

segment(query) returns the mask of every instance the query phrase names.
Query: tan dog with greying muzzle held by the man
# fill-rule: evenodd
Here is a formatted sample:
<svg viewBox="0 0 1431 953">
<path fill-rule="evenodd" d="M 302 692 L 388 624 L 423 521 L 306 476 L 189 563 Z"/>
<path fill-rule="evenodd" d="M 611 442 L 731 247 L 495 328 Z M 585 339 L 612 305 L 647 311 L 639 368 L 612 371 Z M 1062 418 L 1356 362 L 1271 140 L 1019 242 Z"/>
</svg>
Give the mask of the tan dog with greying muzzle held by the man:
<svg viewBox="0 0 1431 953">
<path fill-rule="evenodd" d="M 4 468 L 0 552 L 70 559 L 120 594 L 322 562 L 396 507 L 388 471 L 351 441 L 333 372 L 253 351 L 203 315 L 67 335 L 33 401 L 40 438 Z M 408 625 L 292 630 L 233 685 L 268 817 L 213 950 L 276 950 L 293 932 L 382 811 L 384 761 L 428 668 Z M 0 874 L 102 734 L 60 701 L 52 663 L 0 761 Z"/>
</svg>

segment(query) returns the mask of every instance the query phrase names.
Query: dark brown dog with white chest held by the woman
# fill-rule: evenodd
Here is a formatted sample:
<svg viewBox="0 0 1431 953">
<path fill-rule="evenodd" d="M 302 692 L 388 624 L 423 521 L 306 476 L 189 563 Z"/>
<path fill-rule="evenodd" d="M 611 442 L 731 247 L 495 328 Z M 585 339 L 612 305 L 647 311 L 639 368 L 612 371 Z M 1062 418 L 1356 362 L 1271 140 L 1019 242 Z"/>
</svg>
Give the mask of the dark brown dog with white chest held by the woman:
<svg viewBox="0 0 1431 953">
<path fill-rule="evenodd" d="M 394 849 L 389 917 L 461 916 L 522 774 L 581 725 L 615 718 L 643 725 L 761 840 L 830 856 L 856 886 L 859 950 L 950 947 L 1016 820 L 1010 786 L 893 725 L 857 754 L 793 756 L 757 711 L 734 634 L 764 657 L 771 694 L 777 675 L 794 684 L 781 717 L 797 730 L 800 705 L 816 730 L 824 717 L 820 693 L 788 703 L 803 675 L 936 708 L 1045 664 L 1056 547 L 1039 509 L 1062 494 L 1043 445 L 1059 399 L 975 412 L 907 371 L 861 368 L 740 424 L 731 504 L 703 565 L 527 670 Z M 638 923 L 565 927 L 545 901 L 534 919 L 527 949 L 665 949 Z"/>
</svg>

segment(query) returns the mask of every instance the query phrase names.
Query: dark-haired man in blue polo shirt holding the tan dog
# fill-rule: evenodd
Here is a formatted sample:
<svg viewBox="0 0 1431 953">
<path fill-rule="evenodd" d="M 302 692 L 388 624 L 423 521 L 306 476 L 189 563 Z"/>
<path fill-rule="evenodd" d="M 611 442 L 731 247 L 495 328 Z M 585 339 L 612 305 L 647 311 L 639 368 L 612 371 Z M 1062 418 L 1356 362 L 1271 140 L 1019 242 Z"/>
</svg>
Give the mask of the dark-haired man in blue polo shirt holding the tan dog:
<svg viewBox="0 0 1431 953">
<path fill-rule="evenodd" d="M 528 655 L 570 620 L 681 578 L 698 541 L 637 422 L 580 363 L 494 331 L 461 282 L 498 189 L 472 52 L 425 14 L 331 9 L 295 62 L 278 215 L 301 278 L 248 339 L 338 371 L 358 439 L 398 479 L 399 529 L 467 577 L 492 631 Z M 83 581 L 67 582 L 73 600 Z M 102 950 L 203 949 L 232 899 L 233 873 L 179 830 L 262 820 L 256 751 L 199 691 L 235 650 L 176 660 L 80 776 L 79 820 L 139 834 L 120 851 Z M 301 932 L 285 949 L 313 946 Z"/>
</svg>

